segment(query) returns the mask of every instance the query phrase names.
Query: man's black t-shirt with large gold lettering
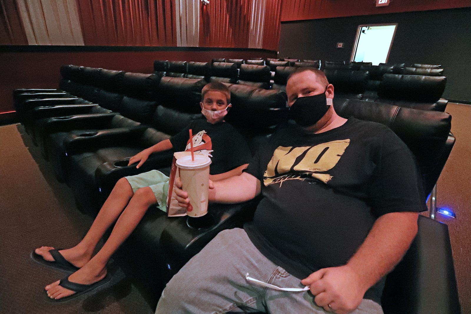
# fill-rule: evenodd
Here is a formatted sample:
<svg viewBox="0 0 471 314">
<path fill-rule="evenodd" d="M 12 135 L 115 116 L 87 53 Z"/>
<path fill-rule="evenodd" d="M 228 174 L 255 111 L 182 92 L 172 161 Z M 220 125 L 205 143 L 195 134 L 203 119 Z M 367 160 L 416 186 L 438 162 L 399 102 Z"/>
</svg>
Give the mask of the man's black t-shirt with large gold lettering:
<svg viewBox="0 0 471 314">
<path fill-rule="evenodd" d="M 350 118 L 319 134 L 287 127 L 245 171 L 262 182 L 264 196 L 245 231 L 260 252 L 300 279 L 346 264 L 379 216 L 425 210 L 412 153 L 374 122 Z M 383 286 L 384 279 L 365 298 L 381 304 Z"/>
</svg>

